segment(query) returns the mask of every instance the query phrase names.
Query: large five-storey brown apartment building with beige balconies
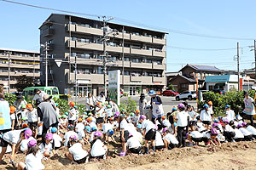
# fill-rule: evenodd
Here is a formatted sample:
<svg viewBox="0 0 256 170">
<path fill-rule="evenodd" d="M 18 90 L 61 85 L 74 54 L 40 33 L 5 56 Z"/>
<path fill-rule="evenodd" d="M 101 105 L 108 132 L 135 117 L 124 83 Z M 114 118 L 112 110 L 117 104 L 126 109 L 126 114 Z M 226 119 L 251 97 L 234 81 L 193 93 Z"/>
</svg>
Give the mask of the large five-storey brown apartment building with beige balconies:
<svg viewBox="0 0 256 170">
<path fill-rule="evenodd" d="M 50 14 L 39 29 L 40 43 L 49 43 L 49 85 L 57 86 L 61 94 L 73 94 L 76 59 L 79 95 L 84 96 L 88 92 L 96 95 L 102 91 L 103 30 L 100 20 Z M 123 92 L 137 95 L 147 93 L 149 89 L 161 91 L 166 88 L 166 33 L 108 23 L 108 30 L 111 29 L 118 34 L 108 35 L 107 66 L 108 71 L 121 71 Z M 40 53 L 45 59 L 45 48 L 41 48 Z M 62 59 L 60 67 L 56 65 L 55 59 Z M 43 84 L 45 63 L 41 63 Z"/>
</svg>

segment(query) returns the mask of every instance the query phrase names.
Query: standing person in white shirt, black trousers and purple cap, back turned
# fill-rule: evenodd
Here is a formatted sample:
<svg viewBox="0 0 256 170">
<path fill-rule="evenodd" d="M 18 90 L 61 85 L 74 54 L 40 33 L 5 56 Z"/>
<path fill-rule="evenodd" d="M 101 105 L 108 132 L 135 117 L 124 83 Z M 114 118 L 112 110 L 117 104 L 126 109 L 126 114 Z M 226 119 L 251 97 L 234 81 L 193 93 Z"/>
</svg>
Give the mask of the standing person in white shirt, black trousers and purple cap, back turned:
<svg viewBox="0 0 256 170">
<path fill-rule="evenodd" d="M 177 105 L 177 141 L 178 147 L 183 145 L 185 147 L 186 133 L 189 123 L 189 114 L 185 111 L 185 105 Z"/>
</svg>

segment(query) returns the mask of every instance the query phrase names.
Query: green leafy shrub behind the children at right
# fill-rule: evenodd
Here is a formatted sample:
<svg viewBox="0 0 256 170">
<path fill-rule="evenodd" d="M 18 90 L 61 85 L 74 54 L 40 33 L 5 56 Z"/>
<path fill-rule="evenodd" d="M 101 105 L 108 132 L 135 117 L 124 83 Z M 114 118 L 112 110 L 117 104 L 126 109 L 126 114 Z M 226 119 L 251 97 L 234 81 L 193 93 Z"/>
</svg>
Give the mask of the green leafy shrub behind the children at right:
<svg viewBox="0 0 256 170">
<path fill-rule="evenodd" d="M 249 95 L 254 98 L 255 91 L 249 90 Z M 244 109 L 244 92 L 230 91 L 225 95 L 214 94 L 212 91 L 203 94 L 204 101 L 199 103 L 199 109 L 203 109 L 203 105 L 212 101 L 214 116 L 223 116 L 225 114 L 225 105 L 230 105 L 231 109 L 237 114 Z"/>
</svg>

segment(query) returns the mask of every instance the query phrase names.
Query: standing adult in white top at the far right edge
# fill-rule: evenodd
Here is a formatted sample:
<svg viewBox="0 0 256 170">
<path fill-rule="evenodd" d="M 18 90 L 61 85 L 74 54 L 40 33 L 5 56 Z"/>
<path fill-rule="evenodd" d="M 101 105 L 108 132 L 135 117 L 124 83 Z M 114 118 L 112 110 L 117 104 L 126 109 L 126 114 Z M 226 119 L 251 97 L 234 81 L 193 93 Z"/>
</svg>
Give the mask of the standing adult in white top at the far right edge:
<svg viewBox="0 0 256 170">
<path fill-rule="evenodd" d="M 255 102 L 253 98 L 249 96 L 248 92 L 245 92 L 243 102 L 245 109 L 242 111 L 242 113 L 250 117 L 251 125 L 253 126 L 253 115 L 255 115 Z"/>
</svg>

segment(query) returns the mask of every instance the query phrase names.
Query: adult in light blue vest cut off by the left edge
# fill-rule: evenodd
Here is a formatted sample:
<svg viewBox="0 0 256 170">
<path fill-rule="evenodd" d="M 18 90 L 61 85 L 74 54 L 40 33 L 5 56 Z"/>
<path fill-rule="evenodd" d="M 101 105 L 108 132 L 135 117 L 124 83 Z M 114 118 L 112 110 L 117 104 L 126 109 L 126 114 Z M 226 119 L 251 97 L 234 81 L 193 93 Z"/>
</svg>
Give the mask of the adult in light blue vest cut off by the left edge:
<svg viewBox="0 0 256 170">
<path fill-rule="evenodd" d="M 0 134 L 11 130 L 9 102 L 4 100 L 3 88 L 0 86 Z"/>
</svg>

